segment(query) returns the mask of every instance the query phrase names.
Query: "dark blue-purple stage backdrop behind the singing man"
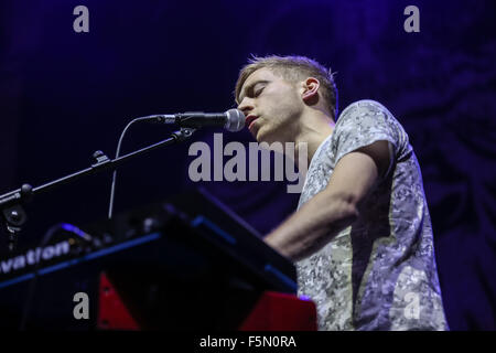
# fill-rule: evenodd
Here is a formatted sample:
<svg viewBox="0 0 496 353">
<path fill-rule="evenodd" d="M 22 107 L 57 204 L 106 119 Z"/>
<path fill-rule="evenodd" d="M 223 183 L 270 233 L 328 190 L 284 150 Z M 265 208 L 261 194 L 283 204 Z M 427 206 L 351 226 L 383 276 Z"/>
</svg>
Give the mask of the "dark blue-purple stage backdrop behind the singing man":
<svg viewBox="0 0 496 353">
<path fill-rule="evenodd" d="M 73 9 L 89 9 L 89 33 Z M 420 33 L 403 9 L 420 9 Z M 406 127 L 424 178 L 448 321 L 494 330 L 496 318 L 496 103 L 494 1 L 2 1 L 0 189 L 39 185 L 114 154 L 133 117 L 234 106 L 250 53 L 301 54 L 337 72 L 339 107 L 385 104 Z M 164 138 L 137 126 L 123 150 Z M 212 142 L 205 129 L 193 141 Z M 252 141 L 247 131 L 224 141 Z M 155 151 L 120 170 L 116 210 L 197 186 L 190 143 Z M 261 234 L 298 202 L 284 182 L 204 182 Z M 28 207 L 19 247 L 58 222 L 101 218 L 108 173 L 63 186 Z M 2 239 L 3 242 L 4 239 Z"/>
</svg>

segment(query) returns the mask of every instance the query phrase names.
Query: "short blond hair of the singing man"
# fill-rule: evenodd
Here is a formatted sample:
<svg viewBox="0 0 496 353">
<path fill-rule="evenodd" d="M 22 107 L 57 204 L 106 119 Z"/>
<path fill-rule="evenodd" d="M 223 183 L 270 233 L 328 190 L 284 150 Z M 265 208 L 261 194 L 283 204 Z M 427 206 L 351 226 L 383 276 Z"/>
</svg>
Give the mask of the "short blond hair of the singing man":
<svg viewBox="0 0 496 353">
<path fill-rule="evenodd" d="M 334 74 L 331 68 L 327 69 L 316 61 L 305 56 L 252 56 L 248 64 L 241 67 L 236 83 L 235 99 L 239 104 L 239 95 L 242 85 L 249 75 L 259 68 L 267 67 L 274 74 L 290 82 L 299 82 L 306 77 L 315 77 L 321 83 L 319 90 L 325 101 L 332 118 L 337 116 L 337 88 L 334 83 Z"/>
</svg>

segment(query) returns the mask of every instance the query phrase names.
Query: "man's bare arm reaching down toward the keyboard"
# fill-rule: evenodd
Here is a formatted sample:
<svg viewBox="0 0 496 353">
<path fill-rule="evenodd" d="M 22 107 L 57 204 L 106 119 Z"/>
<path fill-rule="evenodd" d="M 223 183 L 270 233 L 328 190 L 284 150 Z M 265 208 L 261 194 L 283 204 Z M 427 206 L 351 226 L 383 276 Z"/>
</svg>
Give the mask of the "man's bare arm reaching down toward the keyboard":
<svg viewBox="0 0 496 353">
<path fill-rule="evenodd" d="M 392 160 L 388 141 L 376 141 L 344 156 L 327 186 L 293 213 L 265 242 L 292 260 L 305 258 L 353 224 L 360 203 Z"/>
</svg>

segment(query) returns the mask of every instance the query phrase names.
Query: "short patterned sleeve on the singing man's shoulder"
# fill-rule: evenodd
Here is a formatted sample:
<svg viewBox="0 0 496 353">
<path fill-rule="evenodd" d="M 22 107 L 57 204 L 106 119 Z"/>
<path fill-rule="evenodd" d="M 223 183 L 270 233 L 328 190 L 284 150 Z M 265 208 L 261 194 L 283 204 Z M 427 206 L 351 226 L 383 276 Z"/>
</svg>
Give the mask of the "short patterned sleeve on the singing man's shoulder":
<svg viewBox="0 0 496 353">
<path fill-rule="evenodd" d="M 386 140 L 392 146 L 392 164 L 405 145 L 405 130 L 386 107 L 374 100 L 359 100 L 348 106 L 337 120 L 333 137 L 334 163 L 362 147 Z"/>
</svg>

